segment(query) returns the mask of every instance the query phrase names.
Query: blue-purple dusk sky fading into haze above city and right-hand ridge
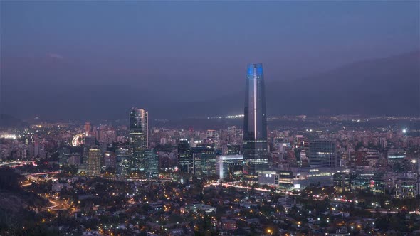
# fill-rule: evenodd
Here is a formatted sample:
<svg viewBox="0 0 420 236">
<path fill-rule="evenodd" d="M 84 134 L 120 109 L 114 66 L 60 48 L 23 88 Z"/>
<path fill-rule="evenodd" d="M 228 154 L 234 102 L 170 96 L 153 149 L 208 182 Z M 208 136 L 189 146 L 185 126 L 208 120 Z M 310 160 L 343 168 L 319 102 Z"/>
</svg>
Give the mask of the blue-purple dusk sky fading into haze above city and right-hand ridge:
<svg viewBox="0 0 420 236">
<path fill-rule="evenodd" d="M 105 109 L 123 117 L 147 104 L 145 95 L 158 102 L 210 100 L 243 91 L 248 63 L 263 63 L 269 84 L 419 50 L 419 1 L 0 6 L 1 112 L 21 119 L 85 119 L 106 116 Z M 127 93 L 139 100 L 125 100 Z M 109 107 L 111 100 L 117 107 Z M 74 115 L 75 107 L 83 112 Z"/>
</svg>

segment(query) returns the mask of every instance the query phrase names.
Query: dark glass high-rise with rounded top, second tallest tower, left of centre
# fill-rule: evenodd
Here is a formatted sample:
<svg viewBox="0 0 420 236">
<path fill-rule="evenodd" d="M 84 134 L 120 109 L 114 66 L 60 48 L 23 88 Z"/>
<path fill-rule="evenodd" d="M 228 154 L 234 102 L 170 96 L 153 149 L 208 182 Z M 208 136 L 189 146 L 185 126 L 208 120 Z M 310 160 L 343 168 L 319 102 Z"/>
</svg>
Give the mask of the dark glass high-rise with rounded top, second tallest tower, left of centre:
<svg viewBox="0 0 420 236">
<path fill-rule="evenodd" d="M 130 112 L 130 154 L 132 172 L 145 171 L 145 154 L 148 142 L 148 114 L 145 109 L 134 108 Z"/>
</svg>

